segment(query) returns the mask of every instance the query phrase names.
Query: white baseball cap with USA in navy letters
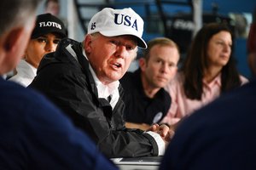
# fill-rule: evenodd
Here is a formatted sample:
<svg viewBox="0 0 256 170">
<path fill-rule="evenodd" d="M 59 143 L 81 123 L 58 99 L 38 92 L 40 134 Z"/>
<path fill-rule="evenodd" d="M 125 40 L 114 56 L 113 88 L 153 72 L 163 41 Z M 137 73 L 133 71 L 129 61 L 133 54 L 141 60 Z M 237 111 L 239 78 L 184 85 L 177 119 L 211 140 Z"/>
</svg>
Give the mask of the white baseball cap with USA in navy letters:
<svg viewBox="0 0 256 170">
<path fill-rule="evenodd" d="M 96 13 L 88 25 L 88 34 L 100 32 L 103 36 L 131 35 L 137 37 L 137 46 L 147 48 L 143 40 L 143 19 L 131 8 L 103 8 Z"/>
</svg>

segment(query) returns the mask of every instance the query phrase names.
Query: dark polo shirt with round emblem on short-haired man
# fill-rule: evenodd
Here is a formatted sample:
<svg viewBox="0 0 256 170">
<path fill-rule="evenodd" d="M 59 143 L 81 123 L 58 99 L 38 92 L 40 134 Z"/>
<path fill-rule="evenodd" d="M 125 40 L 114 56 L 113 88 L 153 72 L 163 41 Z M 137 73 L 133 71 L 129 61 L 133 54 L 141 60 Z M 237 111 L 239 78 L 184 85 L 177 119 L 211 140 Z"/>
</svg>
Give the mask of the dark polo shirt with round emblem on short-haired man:
<svg viewBox="0 0 256 170">
<path fill-rule="evenodd" d="M 126 72 L 119 81 L 125 89 L 125 121 L 152 124 L 160 122 L 166 116 L 171 105 L 170 94 L 164 88 L 155 94 L 154 99 L 148 98 L 143 90 L 141 70 Z"/>
</svg>

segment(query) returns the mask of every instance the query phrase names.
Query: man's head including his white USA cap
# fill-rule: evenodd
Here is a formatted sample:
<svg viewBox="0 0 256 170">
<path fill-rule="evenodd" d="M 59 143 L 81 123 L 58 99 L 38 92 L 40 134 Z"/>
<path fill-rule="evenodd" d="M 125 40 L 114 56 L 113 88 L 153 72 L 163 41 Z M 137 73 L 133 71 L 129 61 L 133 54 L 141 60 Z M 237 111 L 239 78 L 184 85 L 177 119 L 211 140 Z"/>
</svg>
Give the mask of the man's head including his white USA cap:
<svg viewBox="0 0 256 170">
<path fill-rule="evenodd" d="M 99 80 L 119 80 L 137 56 L 143 41 L 143 19 L 131 8 L 103 8 L 95 14 L 84 39 L 84 50 Z"/>
</svg>

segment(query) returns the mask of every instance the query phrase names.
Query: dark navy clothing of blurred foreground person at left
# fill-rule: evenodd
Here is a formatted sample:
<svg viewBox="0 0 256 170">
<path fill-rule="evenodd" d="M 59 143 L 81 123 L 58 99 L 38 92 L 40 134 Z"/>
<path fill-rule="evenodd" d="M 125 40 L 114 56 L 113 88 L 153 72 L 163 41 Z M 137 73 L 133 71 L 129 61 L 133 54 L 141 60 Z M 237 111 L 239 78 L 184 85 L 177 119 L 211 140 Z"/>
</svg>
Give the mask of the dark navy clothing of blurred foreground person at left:
<svg viewBox="0 0 256 170">
<path fill-rule="evenodd" d="M 41 95 L 0 77 L 0 169 L 117 169 Z"/>
</svg>

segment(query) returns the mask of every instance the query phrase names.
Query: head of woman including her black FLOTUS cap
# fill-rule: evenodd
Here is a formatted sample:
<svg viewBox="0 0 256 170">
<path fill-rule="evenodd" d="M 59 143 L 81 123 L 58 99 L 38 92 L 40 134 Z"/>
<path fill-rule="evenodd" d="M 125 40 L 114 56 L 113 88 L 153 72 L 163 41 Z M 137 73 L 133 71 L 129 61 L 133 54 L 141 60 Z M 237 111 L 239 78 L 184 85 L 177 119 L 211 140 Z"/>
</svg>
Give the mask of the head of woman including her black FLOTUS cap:
<svg viewBox="0 0 256 170">
<path fill-rule="evenodd" d="M 39 14 L 26 48 L 26 62 L 38 68 L 44 54 L 54 52 L 63 37 L 67 34 L 61 20 L 52 14 Z"/>
</svg>

